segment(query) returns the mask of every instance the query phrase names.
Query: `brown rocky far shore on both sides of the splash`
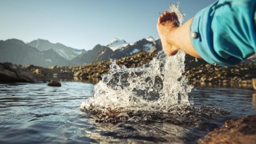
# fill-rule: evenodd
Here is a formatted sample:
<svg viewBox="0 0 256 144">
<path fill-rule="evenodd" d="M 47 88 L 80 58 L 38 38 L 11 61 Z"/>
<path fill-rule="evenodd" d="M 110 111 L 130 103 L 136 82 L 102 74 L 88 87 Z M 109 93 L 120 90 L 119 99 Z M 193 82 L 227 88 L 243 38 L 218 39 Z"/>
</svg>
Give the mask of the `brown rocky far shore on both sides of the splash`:
<svg viewBox="0 0 256 144">
<path fill-rule="evenodd" d="M 138 67 L 150 62 L 157 53 L 138 53 L 133 56 L 120 58 L 116 64 L 126 67 Z M 197 61 L 197 62 L 196 62 Z M 81 66 L 24 66 L 26 71 L 31 71 L 44 80 L 55 78 L 75 78 L 76 80 L 101 80 L 101 75 L 109 71 L 110 61 L 95 62 Z M 256 78 L 256 63 L 243 62 L 237 66 L 212 66 L 203 60 L 196 60 L 186 55 L 185 75 L 194 85 L 221 84 L 221 85 L 250 85 L 252 79 Z"/>
</svg>

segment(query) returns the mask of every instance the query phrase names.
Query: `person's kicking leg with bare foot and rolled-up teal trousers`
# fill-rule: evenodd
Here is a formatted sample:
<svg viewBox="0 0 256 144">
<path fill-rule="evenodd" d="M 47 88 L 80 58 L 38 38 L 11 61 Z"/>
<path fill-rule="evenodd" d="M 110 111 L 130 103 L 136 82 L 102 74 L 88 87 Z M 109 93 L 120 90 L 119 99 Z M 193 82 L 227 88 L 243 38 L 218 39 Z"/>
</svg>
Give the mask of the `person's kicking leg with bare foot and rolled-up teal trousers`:
<svg viewBox="0 0 256 144">
<path fill-rule="evenodd" d="M 235 65 L 256 51 L 255 0 L 216 1 L 180 27 L 164 31 L 160 16 L 157 30 L 164 45 L 201 57 L 210 64 Z M 254 10 L 254 11 L 253 11 Z M 168 16 L 168 15 L 167 15 Z M 256 16 L 254 17 L 256 18 Z M 170 23 L 172 21 L 168 21 Z M 190 27 L 191 26 L 191 27 Z M 254 26 L 255 27 L 255 26 Z M 162 37 L 166 37 L 165 39 Z M 164 47 L 168 51 L 168 47 Z M 166 50 L 167 49 L 167 50 Z M 175 53 L 166 53 L 172 55 Z"/>
</svg>

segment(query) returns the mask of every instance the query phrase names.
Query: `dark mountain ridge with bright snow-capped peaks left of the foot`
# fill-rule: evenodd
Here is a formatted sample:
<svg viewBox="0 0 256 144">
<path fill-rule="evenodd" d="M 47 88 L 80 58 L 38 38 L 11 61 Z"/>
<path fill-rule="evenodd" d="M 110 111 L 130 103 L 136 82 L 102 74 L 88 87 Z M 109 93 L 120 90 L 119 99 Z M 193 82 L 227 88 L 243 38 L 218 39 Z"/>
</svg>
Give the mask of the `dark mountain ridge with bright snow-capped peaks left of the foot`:
<svg viewBox="0 0 256 144">
<path fill-rule="evenodd" d="M 160 40 L 155 40 L 153 37 L 147 39 L 143 38 L 134 43 L 127 43 L 125 40 L 115 38 L 107 46 L 96 45 L 94 49 L 73 58 L 71 62 L 73 64 L 88 64 L 91 62 L 109 60 L 110 58 L 131 56 L 140 52 L 150 53 L 160 51 L 160 49 L 162 49 Z"/>
</svg>

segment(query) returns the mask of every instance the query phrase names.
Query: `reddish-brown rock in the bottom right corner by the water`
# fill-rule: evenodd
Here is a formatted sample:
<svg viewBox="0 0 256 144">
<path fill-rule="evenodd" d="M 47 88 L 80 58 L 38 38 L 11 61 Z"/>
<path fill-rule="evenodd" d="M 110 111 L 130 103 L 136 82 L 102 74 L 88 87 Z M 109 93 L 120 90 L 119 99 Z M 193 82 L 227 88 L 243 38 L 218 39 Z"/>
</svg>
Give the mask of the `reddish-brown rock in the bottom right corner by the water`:
<svg viewBox="0 0 256 144">
<path fill-rule="evenodd" d="M 209 132 L 198 142 L 204 143 L 255 143 L 256 141 L 256 115 L 240 117 L 225 121 L 220 128 Z"/>
</svg>

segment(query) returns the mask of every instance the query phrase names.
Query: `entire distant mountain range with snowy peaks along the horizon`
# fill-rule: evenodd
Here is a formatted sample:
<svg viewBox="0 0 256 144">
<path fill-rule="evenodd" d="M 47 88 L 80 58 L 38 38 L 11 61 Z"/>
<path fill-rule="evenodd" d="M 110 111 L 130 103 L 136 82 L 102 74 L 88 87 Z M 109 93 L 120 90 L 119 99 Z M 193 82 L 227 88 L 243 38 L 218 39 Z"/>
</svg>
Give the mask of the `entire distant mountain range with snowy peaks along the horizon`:
<svg viewBox="0 0 256 144">
<path fill-rule="evenodd" d="M 33 64 L 35 66 L 70 66 L 89 64 L 122 58 L 139 52 L 153 52 L 162 49 L 160 40 L 153 37 L 144 38 L 134 43 L 115 38 L 108 45 L 96 45 L 93 49 L 74 49 L 61 43 L 48 40 L 33 40 L 24 43 L 21 40 L 0 40 L 0 62 L 13 64 Z"/>
</svg>

